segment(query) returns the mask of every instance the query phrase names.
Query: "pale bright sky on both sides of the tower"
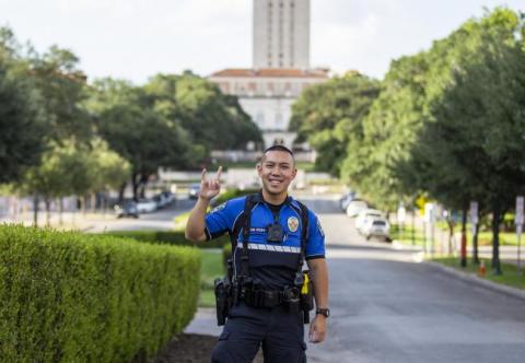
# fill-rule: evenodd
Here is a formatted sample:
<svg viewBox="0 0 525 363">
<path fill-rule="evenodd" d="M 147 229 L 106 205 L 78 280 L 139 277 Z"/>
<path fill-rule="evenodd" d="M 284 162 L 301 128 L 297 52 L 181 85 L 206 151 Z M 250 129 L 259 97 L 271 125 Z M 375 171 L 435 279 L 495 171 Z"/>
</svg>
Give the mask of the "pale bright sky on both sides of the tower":
<svg viewBox="0 0 525 363">
<path fill-rule="evenodd" d="M 253 0 L 0 0 L 0 26 L 72 50 L 89 79 L 252 67 Z M 485 9 L 525 0 L 311 0 L 311 66 L 383 78 Z"/>
</svg>

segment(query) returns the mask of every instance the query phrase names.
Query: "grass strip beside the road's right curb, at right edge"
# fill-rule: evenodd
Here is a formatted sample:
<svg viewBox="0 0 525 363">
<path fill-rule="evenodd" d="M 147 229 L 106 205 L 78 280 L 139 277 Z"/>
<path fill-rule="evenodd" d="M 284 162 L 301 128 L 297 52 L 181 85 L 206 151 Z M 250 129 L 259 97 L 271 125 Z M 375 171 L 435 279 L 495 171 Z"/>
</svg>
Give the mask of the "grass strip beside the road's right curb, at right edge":
<svg viewBox="0 0 525 363">
<path fill-rule="evenodd" d="M 490 268 L 490 259 L 482 259 L 485 261 L 485 266 L 487 267 L 487 274 L 485 276 L 486 280 L 490 280 L 497 283 L 505 284 L 509 286 L 525 290 L 525 276 L 517 271 L 516 266 L 511 264 L 501 264 L 501 269 L 503 270 L 503 274 L 494 276 Z M 459 265 L 459 258 L 456 257 L 440 257 L 432 259 L 434 262 L 439 262 L 448 267 L 453 267 L 456 270 L 477 273 L 478 267 L 474 265 L 471 261 L 468 261 L 466 268 L 462 268 Z"/>
</svg>

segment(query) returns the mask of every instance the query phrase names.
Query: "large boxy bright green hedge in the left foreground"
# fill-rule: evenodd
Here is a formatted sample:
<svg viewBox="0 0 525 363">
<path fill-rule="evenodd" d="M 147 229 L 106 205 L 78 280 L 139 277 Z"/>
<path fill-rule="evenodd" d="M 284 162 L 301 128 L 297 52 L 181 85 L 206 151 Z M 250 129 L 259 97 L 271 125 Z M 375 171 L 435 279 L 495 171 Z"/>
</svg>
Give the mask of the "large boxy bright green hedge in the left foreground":
<svg viewBox="0 0 525 363">
<path fill-rule="evenodd" d="M 0 361 L 130 362 L 191 320 L 200 251 L 0 225 Z"/>
</svg>

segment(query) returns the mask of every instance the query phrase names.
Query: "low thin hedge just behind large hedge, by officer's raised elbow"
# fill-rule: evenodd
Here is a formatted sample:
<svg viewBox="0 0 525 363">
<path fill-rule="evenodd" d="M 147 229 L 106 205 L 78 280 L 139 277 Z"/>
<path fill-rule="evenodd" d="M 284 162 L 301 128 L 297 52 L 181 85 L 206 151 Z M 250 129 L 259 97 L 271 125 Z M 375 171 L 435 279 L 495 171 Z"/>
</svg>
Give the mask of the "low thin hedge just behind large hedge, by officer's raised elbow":
<svg viewBox="0 0 525 363">
<path fill-rule="evenodd" d="M 184 236 L 184 231 L 112 231 L 106 232 L 105 234 L 118 237 L 133 238 L 140 242 L 149 242 L 153 244 L 191 246 L 199 248 L 222 248 L 224 244 L 231 244 L 228 234 L 215 239 L 198 243 L 186 239 L 186 237 Z"/>
</svg>

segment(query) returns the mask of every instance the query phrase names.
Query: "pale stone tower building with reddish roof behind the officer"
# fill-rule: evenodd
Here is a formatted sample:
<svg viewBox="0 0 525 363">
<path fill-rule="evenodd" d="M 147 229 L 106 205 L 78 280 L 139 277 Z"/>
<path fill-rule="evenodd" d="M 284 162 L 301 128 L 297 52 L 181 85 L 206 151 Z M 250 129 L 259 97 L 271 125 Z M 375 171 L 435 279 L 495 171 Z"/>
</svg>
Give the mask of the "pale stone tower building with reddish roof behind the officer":
<svg viewBox="0 0 525 363">
<path fill-rule="evenodd" d="M 306 87 L 328 80 L 328 70 L 310 67 L 310 0 L 253 1 L 253 68 L 229 68 L 208 79 L 238 97 L 262 131 L 265 148 L 293 149 L 292 104 Z"/>
</svg>

